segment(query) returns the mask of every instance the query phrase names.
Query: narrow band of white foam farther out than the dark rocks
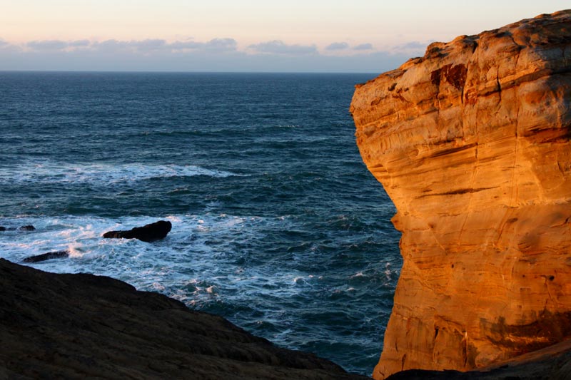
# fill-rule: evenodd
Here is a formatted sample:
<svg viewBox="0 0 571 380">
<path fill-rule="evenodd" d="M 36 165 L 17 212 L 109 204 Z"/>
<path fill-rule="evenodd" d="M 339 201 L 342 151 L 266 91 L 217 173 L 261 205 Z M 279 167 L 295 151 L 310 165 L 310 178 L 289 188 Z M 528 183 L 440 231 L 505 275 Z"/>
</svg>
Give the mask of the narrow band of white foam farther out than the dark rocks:
<svg viewBox="0 0 571 380">
<path fill-rule="evenodd" d="M 74 165 L 47 161 L 0 167 L 1 183 L 124 183 L 151 178 L 191 177 L 207 175 L 223 178 L 237 175 L 223 170 L 195 165 L 143 165 L 139 163 L 107 165 Z"/>
</svg>

